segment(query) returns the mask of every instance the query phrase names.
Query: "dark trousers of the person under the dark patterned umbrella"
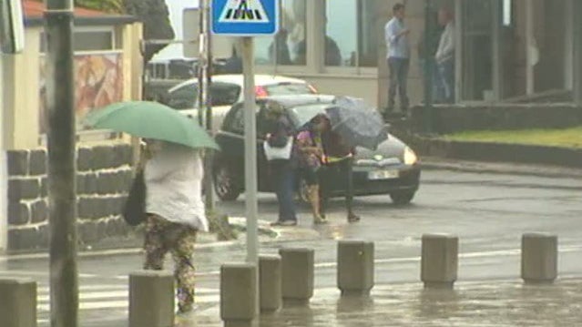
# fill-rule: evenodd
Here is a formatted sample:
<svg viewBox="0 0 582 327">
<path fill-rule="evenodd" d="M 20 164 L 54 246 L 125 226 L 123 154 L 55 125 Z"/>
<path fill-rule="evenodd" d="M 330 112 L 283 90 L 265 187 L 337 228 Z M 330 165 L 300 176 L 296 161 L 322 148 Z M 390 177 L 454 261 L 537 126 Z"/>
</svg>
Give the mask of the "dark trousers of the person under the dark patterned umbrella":
<svg viewBox="0 0 582 327">
<path fill-rule="evenodd" d="M 342 189 L 345 196 L 345 209 L 353 212 L 353 159 L 328 164 L 320 169 L 321 212 L 325 214 L 333 189 Z M 339 183 L 339 184 L 338 184 Z"/>
</svg>

